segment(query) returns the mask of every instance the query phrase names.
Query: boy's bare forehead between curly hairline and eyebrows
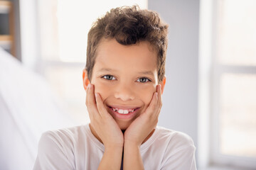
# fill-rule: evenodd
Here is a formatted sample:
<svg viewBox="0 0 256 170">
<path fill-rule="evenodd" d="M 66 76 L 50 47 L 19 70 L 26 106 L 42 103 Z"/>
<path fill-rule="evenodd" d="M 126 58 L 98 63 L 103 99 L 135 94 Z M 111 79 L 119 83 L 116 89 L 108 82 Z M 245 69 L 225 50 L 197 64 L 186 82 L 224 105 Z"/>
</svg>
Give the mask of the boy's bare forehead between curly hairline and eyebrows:
<svg viewBox="0 0 256 170">
<path fill-rule="evenodd" d="M 102 40 L 97 48 L 95 69 L 101 67 L 132 70 L 156 71 L 157 55 L 150 43 L 139 42 L 135 45 L 121 45 L 116 40 Z"/>
</svg>

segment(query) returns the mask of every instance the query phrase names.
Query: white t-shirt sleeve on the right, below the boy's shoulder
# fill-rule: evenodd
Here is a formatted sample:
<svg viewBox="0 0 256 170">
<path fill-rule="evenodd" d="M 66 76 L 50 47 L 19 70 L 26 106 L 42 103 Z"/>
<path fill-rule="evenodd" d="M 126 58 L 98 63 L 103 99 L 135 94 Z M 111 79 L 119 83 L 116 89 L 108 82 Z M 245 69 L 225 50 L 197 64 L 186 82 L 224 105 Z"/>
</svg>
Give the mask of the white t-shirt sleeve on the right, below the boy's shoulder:
<svg viewBox="0 0 256 170">
<path fill-rule="evenodd" d="M 196 147 L 191 137 L 177 134 L 169 143 L 161 170 L 196 170 Z"/>
</svg>

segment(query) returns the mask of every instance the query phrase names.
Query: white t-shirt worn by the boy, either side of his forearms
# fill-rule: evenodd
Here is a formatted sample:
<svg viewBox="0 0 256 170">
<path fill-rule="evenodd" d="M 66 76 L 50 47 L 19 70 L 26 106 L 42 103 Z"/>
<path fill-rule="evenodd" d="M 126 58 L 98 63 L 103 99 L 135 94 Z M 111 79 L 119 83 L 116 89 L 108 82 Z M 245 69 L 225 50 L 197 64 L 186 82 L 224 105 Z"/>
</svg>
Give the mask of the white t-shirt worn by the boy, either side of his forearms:
<svg viewBox="0 0 256 170">
<path fill-rule="evenodd" d="M 104 145 L 92 135 L 89 124 L 44 132 L 33 169 L 97 169 Z M 141 147 L 146 170 L 196 170 L 195 146 L 188 135 L 156 127 Z"/>
</svg>

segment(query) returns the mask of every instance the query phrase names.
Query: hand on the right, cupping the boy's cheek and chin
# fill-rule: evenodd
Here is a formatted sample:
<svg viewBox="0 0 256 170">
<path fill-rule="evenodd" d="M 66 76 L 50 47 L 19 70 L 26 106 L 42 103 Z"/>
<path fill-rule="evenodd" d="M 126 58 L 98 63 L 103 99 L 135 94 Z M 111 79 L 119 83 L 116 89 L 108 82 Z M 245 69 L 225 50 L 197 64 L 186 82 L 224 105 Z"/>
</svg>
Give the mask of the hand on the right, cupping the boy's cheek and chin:
<svg viewBox="0 0 256 170">
<path fill-rule="evenodd" d="M 156 86 L 156 92 L 153 94 L 149 107 L 125 130 L 124 144 L 129 143 L 138 147 L 142 145 L 150 132 L 156 128 L 161 106 L 161 85 L 159 84 Z"/>
</svg>

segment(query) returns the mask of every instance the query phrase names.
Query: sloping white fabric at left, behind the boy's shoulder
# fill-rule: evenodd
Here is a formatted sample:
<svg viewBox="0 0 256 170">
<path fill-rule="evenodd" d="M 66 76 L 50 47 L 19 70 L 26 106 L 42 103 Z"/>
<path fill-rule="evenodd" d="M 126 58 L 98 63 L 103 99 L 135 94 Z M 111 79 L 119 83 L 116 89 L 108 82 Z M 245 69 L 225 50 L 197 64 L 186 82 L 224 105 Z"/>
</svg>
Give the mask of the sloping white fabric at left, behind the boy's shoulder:
<svg viewBox="0 0 256 170">
<path fill-rule="evenodd" d="M 42 132 L 73 125 L 45 79 L 0 48 L 0 169 L 32 169 Z"/>
</svg>

